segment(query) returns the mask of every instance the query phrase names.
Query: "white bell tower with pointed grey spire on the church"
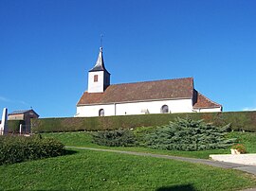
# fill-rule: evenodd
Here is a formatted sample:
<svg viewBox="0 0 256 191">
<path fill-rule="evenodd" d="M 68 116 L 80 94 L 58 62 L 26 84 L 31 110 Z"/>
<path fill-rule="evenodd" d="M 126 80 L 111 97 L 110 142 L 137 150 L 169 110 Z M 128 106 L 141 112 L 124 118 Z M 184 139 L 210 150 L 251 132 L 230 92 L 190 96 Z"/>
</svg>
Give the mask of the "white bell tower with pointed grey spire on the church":
<svg viewBox="0 0 256 191">
<path fill-rule="evenodd" d="M 103 93 L 110 85 L 110 73 L 106 70 L 103 61 L 102 47 L 95 66 L 89 70 L 88 93 Z"/>
</svg>

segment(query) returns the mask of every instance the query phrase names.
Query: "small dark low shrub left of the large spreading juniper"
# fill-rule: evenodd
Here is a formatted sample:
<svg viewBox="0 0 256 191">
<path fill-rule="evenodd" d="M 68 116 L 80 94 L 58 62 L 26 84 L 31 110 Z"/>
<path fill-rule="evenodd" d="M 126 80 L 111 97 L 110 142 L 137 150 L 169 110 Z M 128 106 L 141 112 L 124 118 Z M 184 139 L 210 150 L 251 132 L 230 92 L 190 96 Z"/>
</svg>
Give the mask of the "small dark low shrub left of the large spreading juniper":
<svg viewBox="0 0 256 191">
<path fill-rule="evenodd" d="M 93 132 L 92 135 L 93 142 L 100 146 L 130 147 L 136 144 L 132 130 L 103 130 Z"/>
</svg>

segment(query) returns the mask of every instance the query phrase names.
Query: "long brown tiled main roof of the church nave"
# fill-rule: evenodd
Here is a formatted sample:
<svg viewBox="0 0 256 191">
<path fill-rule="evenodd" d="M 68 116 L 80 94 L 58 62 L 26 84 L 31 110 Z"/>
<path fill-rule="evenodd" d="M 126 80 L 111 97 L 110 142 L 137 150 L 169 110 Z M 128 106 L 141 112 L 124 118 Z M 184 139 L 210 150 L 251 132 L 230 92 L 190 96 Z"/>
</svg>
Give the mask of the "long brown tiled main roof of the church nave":
<svg viewBox="0 0 256 191">
<path fill-rule="evenodd" d="M 193 78 L 175 78 L 110 85 L 103 93 L 84 92 L 79 105 L 192 98 Z"/>
</svg>

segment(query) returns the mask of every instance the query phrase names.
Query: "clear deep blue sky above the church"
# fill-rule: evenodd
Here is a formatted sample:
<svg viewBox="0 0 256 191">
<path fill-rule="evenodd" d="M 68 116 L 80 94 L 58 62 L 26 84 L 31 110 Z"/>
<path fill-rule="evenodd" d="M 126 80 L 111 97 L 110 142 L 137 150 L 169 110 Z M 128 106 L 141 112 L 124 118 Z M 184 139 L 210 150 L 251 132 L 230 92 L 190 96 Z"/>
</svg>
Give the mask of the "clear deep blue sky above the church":
<svg viewBox="0 0 256 191">
<path fill-rule="evenodd" d="M 0 113 L 73 116 L 101 33 L 112 83 L 193 77 L 256 109 L 255 0 L 0 0 Z"/>
</svg>

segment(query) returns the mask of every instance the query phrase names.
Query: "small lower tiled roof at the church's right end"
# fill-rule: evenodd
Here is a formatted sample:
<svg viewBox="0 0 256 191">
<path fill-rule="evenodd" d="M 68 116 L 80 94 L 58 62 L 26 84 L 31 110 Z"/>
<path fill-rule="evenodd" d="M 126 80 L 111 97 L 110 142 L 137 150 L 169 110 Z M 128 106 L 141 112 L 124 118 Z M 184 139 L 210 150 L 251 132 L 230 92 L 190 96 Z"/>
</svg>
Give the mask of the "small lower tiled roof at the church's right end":
<svg viewBox="0 0 256 191">
<path fill-rule="evenodd" d="M 195 103 L 193 105 L 193 109 L 222 107 L 222 105 L 215 103 L 214 101 L 211 101 L 210 98 L 201 95 L 196 90 L 194 90 L 194 93 L 195 93 Z"/>
</svg>

